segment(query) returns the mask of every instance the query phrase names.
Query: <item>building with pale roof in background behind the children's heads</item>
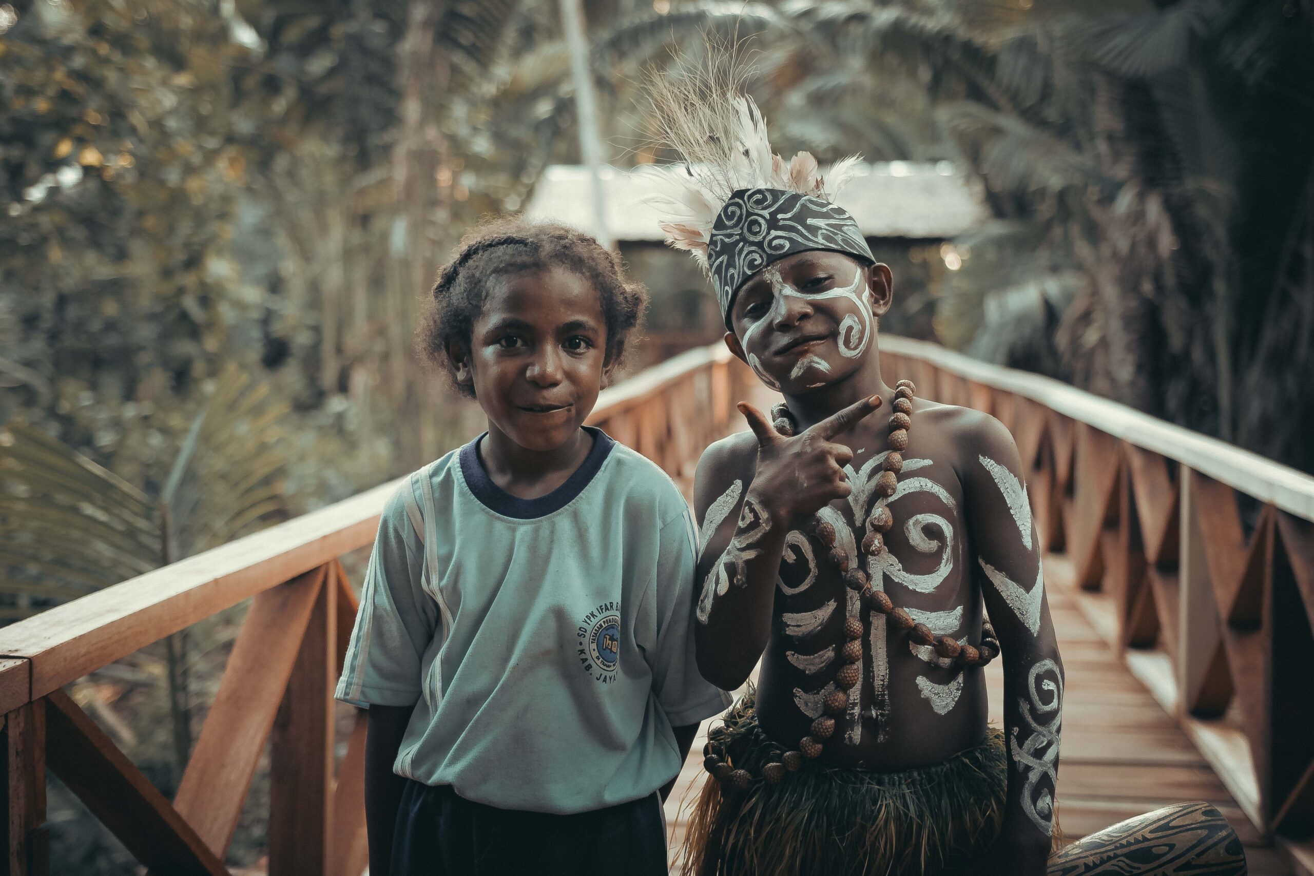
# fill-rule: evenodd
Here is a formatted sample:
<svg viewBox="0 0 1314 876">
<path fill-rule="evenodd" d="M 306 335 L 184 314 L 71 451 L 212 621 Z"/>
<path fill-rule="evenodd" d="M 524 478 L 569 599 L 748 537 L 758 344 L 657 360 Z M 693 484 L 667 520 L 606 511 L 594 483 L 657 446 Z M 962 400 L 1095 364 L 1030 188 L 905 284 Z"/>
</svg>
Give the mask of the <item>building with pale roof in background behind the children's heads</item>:
<svg viewBox="0 0 1314 876">
<path fill-rule="evenodd" d="M 602 168 L 600 177 L 607 200 L 606 236 L 616 242 L 629 273 L 652 294 L 635 365 L 715 341 L 724 330 L 707 280 L 687 253 L 662 243 L 657 213 L 641 202 L 648 193 L 643 180 L 614 167 Z M 552 165 L 524 213 L 595 232 L 587 168 Z M 886 327 L 901 335 L 933 336 L 938 278 L 958 271 L 964 257 L 949 240 L 989 218 L 978 184 L 950 162 L 882 162 L 859 169 L 840 205 L 853 214 L 872 253 L 895 274 L 895 310 Z"/>
</svg>

